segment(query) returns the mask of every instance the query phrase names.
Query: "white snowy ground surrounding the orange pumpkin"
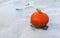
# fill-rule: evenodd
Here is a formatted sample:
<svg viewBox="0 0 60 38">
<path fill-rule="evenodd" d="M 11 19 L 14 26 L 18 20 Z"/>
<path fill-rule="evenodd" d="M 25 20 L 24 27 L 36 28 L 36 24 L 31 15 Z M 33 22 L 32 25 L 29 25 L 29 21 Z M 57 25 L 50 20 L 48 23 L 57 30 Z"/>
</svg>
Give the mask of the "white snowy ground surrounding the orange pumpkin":
<svg viewBox="0 0 60 38">
<path fill-rule="evenodd" d="M 49 15 L 48 30 L 30 27 L 36 8 Z M 59 0 L 7 0 L 0 4 L 0 38 L 60 38 L 59 17 Z"/>
</svg>

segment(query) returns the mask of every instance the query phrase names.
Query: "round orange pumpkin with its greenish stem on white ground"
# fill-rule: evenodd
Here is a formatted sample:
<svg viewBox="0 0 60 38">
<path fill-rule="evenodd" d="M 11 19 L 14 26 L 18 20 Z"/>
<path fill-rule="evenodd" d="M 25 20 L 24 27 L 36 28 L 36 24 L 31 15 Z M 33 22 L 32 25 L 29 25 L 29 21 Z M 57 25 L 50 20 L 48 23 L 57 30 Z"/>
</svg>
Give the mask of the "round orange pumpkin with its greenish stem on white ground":
<svg viewBox="0 0 60 38">
<path fill-rule="evenodd" d="M 48 24 L 49 22 L 49 17 L 47 14 L 43 13 L 41 10 L 38 8 L 36 9 L 37 12 L 34 12 L 31 15 L 31 24 L 35 27 L 44 27 Z"/>
</svg>

